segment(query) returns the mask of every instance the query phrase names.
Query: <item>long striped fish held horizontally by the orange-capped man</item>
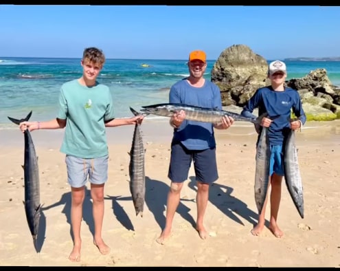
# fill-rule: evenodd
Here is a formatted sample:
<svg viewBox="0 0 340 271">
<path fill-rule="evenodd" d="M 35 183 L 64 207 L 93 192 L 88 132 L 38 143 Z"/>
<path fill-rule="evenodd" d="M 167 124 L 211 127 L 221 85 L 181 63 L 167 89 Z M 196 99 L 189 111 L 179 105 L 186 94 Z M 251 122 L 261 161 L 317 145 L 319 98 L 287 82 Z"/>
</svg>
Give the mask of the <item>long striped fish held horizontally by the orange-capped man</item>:
<svg viewBox="0 0 340 271">
<path fill-rule="evenodd" d="M 247 118 L 239 113 L 234 113 L 231 111 L 225 111 L 220 109 L 212 109 L 207 107 L 196 107 L 194 105 L 184 105 L 181 103 L 161 103 L 157 105 L 146 105 L 141 109 L 141 111 L 146 113 L 152 113 L 157 116 L 163 117 L 171 117 L 174 112 L 178 112 L 180 110 L 185 111 L 185 119 L 187 120 L 196 120 L 199 122 L 212 122 L 218 123 L 221 121 L 223 116 L 229 116 L 234 118 L 236 121 L 247 121 L 252 122 L 254 124 L 260 123 L 259 118 Z M 264 113 L 263 116 L 266 116 L 267 113 Z"/>
</svg>

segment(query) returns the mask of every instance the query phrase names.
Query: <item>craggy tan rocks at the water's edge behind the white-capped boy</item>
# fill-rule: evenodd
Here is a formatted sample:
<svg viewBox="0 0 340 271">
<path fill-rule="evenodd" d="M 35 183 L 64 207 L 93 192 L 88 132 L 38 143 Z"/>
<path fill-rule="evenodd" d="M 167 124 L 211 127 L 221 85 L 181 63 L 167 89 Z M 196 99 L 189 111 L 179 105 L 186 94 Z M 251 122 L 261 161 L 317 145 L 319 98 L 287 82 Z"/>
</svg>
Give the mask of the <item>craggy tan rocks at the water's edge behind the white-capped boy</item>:
<svg viewBox="0 0 340 271">
<path fill-rule="evenodd" d="M 268 63 L 247 45 L 224 50 L 212 67 L 211 80 L 220 87 L 223 106 L 243 107 L 259 87 L 270 85 Z M 299 91 L 308 120 L 340 118 L 340 89 L 332 85 L 326 69 L 286 81 Z"/>
</svg>

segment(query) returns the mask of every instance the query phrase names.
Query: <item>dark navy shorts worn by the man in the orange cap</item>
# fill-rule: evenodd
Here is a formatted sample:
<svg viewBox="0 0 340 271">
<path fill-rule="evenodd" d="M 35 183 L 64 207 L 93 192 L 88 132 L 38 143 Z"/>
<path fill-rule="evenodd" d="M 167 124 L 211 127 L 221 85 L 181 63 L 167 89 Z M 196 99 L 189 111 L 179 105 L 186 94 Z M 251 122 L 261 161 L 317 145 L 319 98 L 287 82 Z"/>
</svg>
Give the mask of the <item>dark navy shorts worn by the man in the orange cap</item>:
<svg viewBox="0 0 340 271">
<path fill-rule="evenodd" d="M 218 179 L 216 147 L 194 151 L 186 149 L 180 142 L 171 145 L 169 179 L 172 182 L 187 180 L 191 162 L 194 163 L 196 181 L 211 184 Z"/>
</svg>

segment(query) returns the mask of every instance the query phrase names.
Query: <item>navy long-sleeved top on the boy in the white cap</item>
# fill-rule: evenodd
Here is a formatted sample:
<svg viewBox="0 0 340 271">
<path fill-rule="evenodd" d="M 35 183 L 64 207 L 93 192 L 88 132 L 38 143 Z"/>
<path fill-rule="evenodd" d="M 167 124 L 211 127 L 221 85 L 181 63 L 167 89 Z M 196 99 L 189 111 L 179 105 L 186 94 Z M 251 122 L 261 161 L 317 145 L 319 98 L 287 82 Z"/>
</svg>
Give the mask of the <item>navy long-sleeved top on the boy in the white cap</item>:
<svg viewBox="0 0 340 271">
<path fill-rule="evenodd" d="M 306 122 L 306 115 L 304 114 L 304 109 L 302 109 L 299 93 L 289 87 L 285 87 L 284 91 L 275 91 L 270 86 L 256 90 L 255 94 L 243 107 L 241 115 L 254 117 L 252 112 L 256 108 L 258 108 L 259 116 L 267 112 L 267 118 L 273 120 L 268 131 L 269 142 L 272 145 L 283 144 L 291 129 L 291 111 L 299 118 L 302 124 Z"/>
</svg>

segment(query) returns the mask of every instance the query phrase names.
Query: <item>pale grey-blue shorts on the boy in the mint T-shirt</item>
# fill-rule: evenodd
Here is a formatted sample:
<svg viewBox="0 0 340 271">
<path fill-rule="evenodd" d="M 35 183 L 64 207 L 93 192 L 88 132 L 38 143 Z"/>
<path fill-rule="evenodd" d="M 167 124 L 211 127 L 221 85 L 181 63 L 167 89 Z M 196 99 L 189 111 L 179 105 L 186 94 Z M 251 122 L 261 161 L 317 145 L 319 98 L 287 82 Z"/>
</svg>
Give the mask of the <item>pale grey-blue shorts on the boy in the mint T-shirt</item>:
<svg viewBox="0 0 340 271">
<path fill-rule="evenodd" d="M 104 184 L 107 180 L 109 155 L 100 158 L 77 158 L 66 155 L 67 182 L 70 186 L 79 188 L 89 182 L 91 184 Z"/>
</svg>

